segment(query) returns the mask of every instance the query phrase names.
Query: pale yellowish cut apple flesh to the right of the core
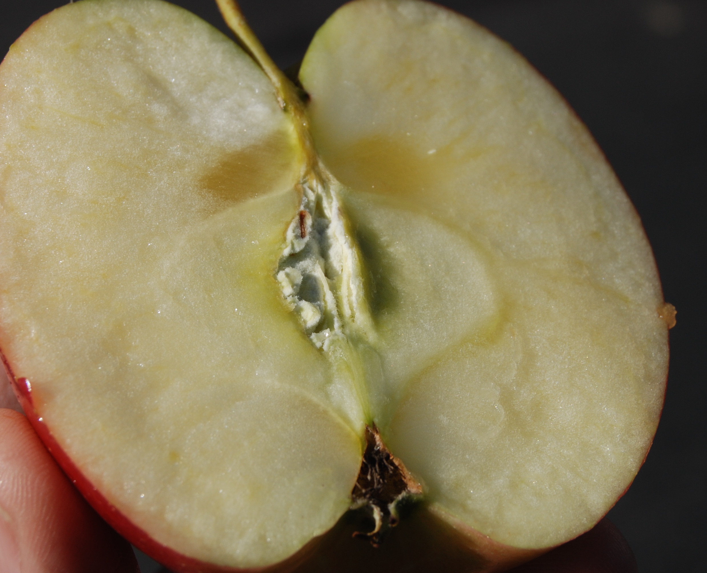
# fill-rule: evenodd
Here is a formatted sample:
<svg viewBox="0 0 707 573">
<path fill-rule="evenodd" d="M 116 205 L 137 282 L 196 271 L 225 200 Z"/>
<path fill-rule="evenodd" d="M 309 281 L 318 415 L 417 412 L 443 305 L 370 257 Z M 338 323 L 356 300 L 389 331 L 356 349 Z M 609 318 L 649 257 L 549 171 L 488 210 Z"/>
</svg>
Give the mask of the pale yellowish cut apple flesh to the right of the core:
<svg viewBox="0 0 707 573">
<path fill-rule="evenodd" d="M 511 47 L 430 4 L 344 6 L 300 80 L 382 247 L 387 445 L 495 540 L 585 531 L 641 466 L 667 370 L 653 256 L 600 150 Z"/>
</svg>

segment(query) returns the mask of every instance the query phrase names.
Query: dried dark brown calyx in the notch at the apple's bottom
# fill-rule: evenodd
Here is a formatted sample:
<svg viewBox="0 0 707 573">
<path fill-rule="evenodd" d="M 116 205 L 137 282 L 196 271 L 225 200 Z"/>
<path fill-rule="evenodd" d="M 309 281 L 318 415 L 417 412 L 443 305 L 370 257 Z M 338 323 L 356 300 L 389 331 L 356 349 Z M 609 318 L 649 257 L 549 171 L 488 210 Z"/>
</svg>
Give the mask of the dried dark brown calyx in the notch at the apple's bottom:
<svg viewBox="0 0 707 573">
<path fill-rule="evenodd" d="M 351 499 L 353 507 L 371 508 L 375 527 L 370 533 L 356 531 L 354 537 L 366 537 L 373 547 L 378 547 L 387 528 L 398 524 L 397 504 L 421 494 L 422 486 L 385 447 L 375 424 L 366 426 L 366 451 Z"/>
</svg>

